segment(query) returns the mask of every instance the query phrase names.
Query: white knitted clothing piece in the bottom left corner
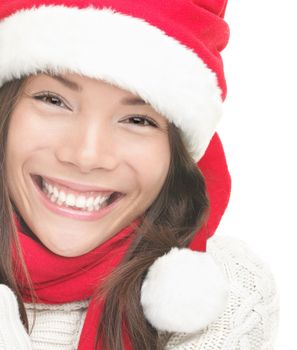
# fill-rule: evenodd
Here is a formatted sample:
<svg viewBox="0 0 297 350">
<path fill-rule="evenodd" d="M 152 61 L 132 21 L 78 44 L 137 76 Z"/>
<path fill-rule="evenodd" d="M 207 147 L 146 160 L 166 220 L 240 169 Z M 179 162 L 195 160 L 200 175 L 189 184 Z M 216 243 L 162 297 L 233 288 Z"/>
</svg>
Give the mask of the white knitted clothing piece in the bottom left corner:
<svg viewBox="0 0 297 350">
<path fill-rule="evenodd" d="M 0 350 L 32 350 L 15 294 L 0 284 Z"/>
</svg>

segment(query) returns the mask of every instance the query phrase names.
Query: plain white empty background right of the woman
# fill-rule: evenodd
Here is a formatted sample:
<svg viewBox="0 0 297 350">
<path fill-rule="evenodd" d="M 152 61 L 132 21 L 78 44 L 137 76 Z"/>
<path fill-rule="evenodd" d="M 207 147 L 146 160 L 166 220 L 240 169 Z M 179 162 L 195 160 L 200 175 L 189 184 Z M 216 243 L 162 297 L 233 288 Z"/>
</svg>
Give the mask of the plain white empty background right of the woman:
<svg viewBox="0 0 297 350">
<path fill-rule="evenodd" d="M 296 15 L 296 0 L 229 0 L 225 16 L 228 94 L 218 133 L 232 192 L 217 234 L 245 240 L 275 276 L 274 350 L 297 343 Z"/>
</svg>

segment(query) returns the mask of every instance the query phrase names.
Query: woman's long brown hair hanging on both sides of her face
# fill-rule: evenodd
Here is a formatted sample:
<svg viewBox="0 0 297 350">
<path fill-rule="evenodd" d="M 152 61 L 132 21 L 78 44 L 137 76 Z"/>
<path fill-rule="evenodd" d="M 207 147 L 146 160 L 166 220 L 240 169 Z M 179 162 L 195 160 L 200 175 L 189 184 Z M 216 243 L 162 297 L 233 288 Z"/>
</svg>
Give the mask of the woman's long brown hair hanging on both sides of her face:
<svg viewBox="0 0 297 350">
<path fill-rule="evenodd" d="M 13 223 L 13 206 L 9 199 L 5 150 L 11 113 L 22 93 L 26 78 L 15 79 L 0 88 L 0 283 L 8 285 L 17 295 L 23 324 L 28 331 L 28 319 L 21 297 L 19 282 L 14 276 L 11 247 L 14 244 L 26 270 Z M 143 213 L 135 230 L 135 239 L 122 262 L 95 291 L 104 308 L 97 330 L 96 344 L 102 340 L 104 350 L 123 350 L 123 321 L 134 350 L 161 350 L 170 333 L 158 333 L 145 319 L 140 303 L 141 285 L 155 259 L 172 247 L 186 247 L 205 223 L 209 200 L 205 181 L 187 151 L 183 134 L 174 124 L 168 127 L 171 162 L 165 183 L 151 206 Z M 32 283 L 31 283 L 32 286 Z M 35 298 L 32 288 L 32 298 Z M 36 300 L 33 299 L 33 300 Z M 97 344 L 98 345 L 98 344 Z"/>
</svg>

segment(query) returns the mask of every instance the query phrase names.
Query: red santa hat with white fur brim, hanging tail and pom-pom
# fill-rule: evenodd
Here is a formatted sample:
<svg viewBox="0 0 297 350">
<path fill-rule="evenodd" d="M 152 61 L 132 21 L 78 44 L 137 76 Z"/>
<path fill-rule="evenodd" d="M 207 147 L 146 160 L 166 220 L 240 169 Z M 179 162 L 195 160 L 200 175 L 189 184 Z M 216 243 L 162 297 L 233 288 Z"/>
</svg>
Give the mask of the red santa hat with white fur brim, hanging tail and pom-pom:
<svg viewBox="0 0 297 350">
<path fill-rule="evenodd" d="M 40 71 L 72 72 L 131 91 L 179 127 L 201 169 L 210 216 L 188 248 L 150 267 L 141 290 L 159 330 L 193 332 L 224 310 L 228 283 L 206 252 L 230 195 L 216 128 L 226 96 L 220 51 L 227 0 L 14 0 L 0 3 L 0 87 Z"/>
</svg>

